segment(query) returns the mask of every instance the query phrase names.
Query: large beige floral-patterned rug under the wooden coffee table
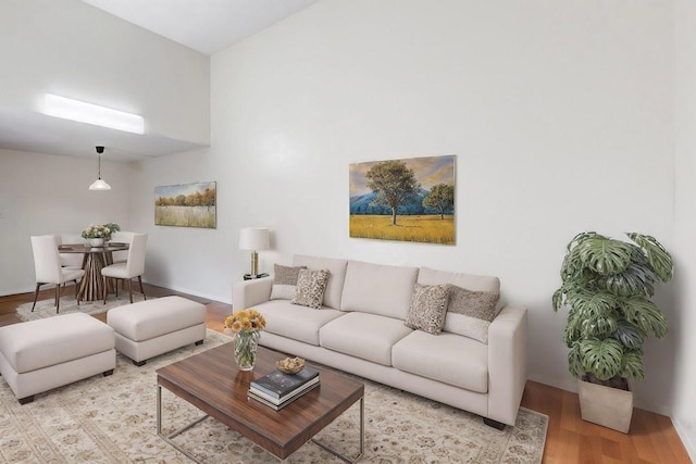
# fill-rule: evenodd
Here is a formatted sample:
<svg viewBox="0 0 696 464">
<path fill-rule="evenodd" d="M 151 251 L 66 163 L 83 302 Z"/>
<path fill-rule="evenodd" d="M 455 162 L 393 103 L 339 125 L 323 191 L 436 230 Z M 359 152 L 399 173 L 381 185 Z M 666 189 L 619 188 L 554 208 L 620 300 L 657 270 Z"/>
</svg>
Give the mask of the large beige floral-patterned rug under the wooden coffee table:
<svg viewBox="0 0 696 464">
<path fill-rule="evenodd" d="M 8 463 L 189 463 L 157 436 L 154 372 L 231 338 L 208 330 L 202 346 L 184 347 L 142 367 L 117 355 L 112 376 L 101 375 L 37 394 L 20 405 L 0 380 L 0 461 Z M 229 362 L 234 362 L 232 350 Z M 364 463 L 539 463 L 548 417 L 521 409 L 515 427 L 496 430 L 481 417 L 389 387 L 365 383 Z M 201 413 L 162 391 L 164 432 Z M 318 439 L 358 451 L 358 404 Z M 204 463 L 273 463 L 260 447 L 212 418 L 175 440 Z M 287 462 L 340 462 L 306 443 Z"/>
</svg>

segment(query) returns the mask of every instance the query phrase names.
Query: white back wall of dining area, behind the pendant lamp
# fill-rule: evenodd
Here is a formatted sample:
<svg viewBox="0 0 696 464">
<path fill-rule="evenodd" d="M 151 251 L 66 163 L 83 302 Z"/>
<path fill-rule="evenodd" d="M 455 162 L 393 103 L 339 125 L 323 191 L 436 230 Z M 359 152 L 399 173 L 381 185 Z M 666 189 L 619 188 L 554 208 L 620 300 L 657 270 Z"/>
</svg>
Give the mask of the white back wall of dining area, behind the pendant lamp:
<svg viewBox="0 0 696 464">
<path fill-rule="evenodd" d="M 102 162 L 112 190 L 90 191 L 97 159 L 0 149 L 0 294 L 34 291 L 29 236 L 77 234 L 89 224 L 130 226 L 134 164 Z"/>
</svg>

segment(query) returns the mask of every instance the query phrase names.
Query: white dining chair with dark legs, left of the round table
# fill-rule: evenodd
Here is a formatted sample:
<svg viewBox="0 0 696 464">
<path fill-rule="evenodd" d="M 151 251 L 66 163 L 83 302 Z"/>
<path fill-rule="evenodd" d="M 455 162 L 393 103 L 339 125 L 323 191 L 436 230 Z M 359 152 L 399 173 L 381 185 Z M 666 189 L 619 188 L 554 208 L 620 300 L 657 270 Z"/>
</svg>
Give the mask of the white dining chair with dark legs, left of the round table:
<svg viewBox="0 0 696 464">
<path fill-rule="evenodd" d="M 58 253 L 58 240 L 52 235 L 32 236 L 32 250 L 34 252 L 34 271 L 36 273 L 36 289 L 34 290 L 34 304 L 39 296 L 42 285 L 55 286 L 55 312 L 60 311 L 61 285 L 66 281 L 75 281 L 75 297 L 77 297 L 77 280 L 85 275 L 85 271 L 61 266 L 61 258 Z M 79 301 L 77 301 L 79 304 Z"/>
</svg>

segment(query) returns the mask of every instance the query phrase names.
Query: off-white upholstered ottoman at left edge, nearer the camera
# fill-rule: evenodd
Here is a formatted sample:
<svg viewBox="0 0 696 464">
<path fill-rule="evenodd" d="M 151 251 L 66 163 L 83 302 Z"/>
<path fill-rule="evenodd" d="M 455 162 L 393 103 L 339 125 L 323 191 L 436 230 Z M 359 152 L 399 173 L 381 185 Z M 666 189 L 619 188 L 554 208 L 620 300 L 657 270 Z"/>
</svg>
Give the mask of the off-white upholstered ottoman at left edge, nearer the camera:
<svg viewBox="0 0 696 464">
<path fill-rule="evenodd" d="M 84 313 L 0 327 L 0 374 L 20 403 L 116 366 L 111 327 Z"/>
</svg>

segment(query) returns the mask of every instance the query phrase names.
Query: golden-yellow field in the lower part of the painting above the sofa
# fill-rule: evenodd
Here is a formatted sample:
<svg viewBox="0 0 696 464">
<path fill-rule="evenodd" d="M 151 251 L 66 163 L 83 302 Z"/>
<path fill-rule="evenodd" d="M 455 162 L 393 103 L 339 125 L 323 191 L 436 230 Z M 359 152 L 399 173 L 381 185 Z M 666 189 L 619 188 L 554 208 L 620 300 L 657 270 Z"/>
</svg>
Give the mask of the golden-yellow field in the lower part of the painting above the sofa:
<svg viewBox="0 0 696 464">
<path fill-rule="evenodd" d="M 452 215 L 445 215 L 444 220 L 439 214 L 397 216 L 396 223 L 391 225 L 391 216 L 351 214 L 350 237 L 455 244 Z"/>
</svg>

